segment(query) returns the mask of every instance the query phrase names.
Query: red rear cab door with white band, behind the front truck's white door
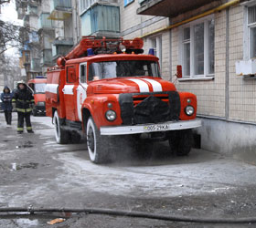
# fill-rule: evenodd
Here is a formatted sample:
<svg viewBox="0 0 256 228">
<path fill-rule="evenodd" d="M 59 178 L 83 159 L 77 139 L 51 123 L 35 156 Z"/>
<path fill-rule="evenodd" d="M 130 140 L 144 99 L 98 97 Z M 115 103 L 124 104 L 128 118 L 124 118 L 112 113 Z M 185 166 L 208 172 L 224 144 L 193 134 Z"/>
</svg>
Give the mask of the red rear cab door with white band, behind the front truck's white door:
<svg viewBox="0 0 256 228">
<path fill-rule="evenodd" d="M 76 120 L 76 87 L 78 79 L 76 77 L 76 68 L 69 66 L 66 68 L 66 84 L 63 88 L 65 108 L 66 108 L 66 119 L 75 121 Z"/>
</svg>

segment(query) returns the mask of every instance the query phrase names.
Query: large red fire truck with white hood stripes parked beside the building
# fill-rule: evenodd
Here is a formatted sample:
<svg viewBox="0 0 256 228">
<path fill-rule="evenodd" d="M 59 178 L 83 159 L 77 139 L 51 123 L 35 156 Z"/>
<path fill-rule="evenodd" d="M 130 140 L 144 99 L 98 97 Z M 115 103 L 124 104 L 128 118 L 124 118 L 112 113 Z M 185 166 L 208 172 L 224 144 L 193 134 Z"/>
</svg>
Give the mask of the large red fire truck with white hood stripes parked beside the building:
<svg viewBox="0 0 256 228">
<path fill-rule="evenodd" d="M 158 58 L 143 55 L 143 46 L 140 38 L 84 36 L 48 69 L 46 112 L 58 143 L 77 142 L 83 132 L 94 163 L 144 139 L 169 140 L 177 155 L 189 153 L 192 129 L 201 125 L 197 97 L 162 79 Z"/>
</svg>

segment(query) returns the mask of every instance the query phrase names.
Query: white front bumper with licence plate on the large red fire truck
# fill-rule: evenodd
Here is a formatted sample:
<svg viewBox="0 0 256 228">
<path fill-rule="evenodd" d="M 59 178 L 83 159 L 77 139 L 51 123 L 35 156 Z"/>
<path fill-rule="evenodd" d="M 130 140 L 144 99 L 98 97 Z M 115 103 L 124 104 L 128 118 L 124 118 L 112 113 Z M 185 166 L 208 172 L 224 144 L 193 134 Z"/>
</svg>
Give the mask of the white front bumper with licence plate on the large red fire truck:
<svg viewBox="0 0 256 228">
<path fill-rule="evenodd" d="M 201 119 L 167 121 L 163 123 L 137 124 L 134 126 L 101 127 L 101 135 L 130 135 L 168 130 L 187 130 L 200 127 Z"/>
</svg>

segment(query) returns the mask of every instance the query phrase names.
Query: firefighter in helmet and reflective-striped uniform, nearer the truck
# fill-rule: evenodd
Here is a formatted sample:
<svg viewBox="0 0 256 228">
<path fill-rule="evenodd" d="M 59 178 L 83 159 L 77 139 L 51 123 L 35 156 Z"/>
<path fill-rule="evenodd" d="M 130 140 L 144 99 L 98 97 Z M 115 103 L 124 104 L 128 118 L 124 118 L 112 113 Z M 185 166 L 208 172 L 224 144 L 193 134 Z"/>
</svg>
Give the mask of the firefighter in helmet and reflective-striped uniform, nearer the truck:
<svg viewBox="0 0 256 228">
<path fill-rule="evenodd" d="M 26 120 L 27 132 L 34 133 L 30 121 L 32 106 L 35 103 L 32 92 L 27 88 L 25 81 L 17 83 L 17 89 L 12 99 L 17 111 L 17 133 L 21 134 L 24 130 L 24 119 Z"/>
</svg>

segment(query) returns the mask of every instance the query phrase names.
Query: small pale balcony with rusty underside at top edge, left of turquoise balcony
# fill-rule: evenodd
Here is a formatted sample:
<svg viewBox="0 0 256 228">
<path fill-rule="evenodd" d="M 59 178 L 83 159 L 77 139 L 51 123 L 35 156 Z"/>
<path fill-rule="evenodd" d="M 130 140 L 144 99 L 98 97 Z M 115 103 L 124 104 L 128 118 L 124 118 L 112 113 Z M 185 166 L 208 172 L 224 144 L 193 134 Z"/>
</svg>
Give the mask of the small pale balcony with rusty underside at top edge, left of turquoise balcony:
<svg viewBox="0 0 256 228">
<path fill-rule="evenodd" d="M 66 20 L 71 16 L 71 14 L 71 0 L 52 0 L 50 2 L 50 19 Z"/>
</svg>

